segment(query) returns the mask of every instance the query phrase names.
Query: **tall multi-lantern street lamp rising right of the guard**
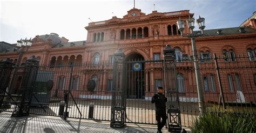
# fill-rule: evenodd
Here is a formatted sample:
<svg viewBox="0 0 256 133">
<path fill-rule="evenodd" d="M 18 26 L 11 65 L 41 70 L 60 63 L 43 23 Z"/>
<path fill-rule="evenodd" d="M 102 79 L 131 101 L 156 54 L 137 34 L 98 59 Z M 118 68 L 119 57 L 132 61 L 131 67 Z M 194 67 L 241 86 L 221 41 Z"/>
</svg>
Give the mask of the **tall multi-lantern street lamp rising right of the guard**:
<svg viewBox="0 0 256 133">
<path fill-rule="evenodd" d="M 199 26 L 199 29 L 201 32 L 194 32 L 194 18 L 189 18 L 186 20 L 188 28 L 190 29 L 190 34 L 183 34 L 184 31 L 184 21 L 179 18 L 177 21 L 178 29 L 181 32 L 181 36 L 187 36 L 188 38 L 191 38 L 191 43 L 192 43 L 192 50 L 193 50 L 193 62 L 194 62 L 194 71 L 196 73 L 196 82 L 197 82 L 197 94 L 198 94 L 198 103 L 199 103 L 199 111 L 200 113 L 203 113 L 205 111 L 205 103 L 204 103 L 204 96 L 201 90 L 201 81 L 200 81 L 200 72 L 199 72 L 199 63 L 198 63 L 198 58 L 197 58 L 197 48 L 196 48 L 196 41 L 195 38 L 198 36 L 203 35 L 203 31 L 205 28 L 205 19 L 199 18 L 197 19 L 197 24 Z"/>
</svg>

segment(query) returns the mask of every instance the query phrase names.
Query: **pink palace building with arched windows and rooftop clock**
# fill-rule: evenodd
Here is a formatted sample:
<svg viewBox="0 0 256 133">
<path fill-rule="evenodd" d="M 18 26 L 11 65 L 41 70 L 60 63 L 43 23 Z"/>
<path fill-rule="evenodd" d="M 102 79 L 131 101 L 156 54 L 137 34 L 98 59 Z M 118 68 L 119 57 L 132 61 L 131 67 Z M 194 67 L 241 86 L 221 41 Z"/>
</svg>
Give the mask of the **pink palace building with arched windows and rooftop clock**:
<svg viewBox="0 0 256 133">
<path fill-rule="evenodd" d="M 69 42 L 68 39 L 64 37 L 60 38 L 56 33 L 37 35 L 32 39 L 33 43 L 28 51 L 23 53 L 21 63 L 25 62 L 25 60 L 32 55 L 35 55 L 36 58 L 40 60 L 41 65 L 46 64 L 54 66 L 71 63 L 111 64 L 113 63 L 113 53 L 119 48 L 125 54 L 126 61 L 163 60 L 163 50 L 166 44 L 170 44 L 170 46 L 175 49 L 176 54 L 178 87 L 179 92 L 181 92 L 180 97 L 188 97 L 188 95 L 190 95 L 189 100 L 191 101 L 193 99 L 191 95 L 194 95 L 195 99 L 197 99 L 196 87 L 194 87 L 196 85 L 196 79 L 193 78 L 186 69 L 183 69 L 193 66 L 192 63 L 184 61 L 192 58 L 191 40 L 190 38 L 180 35 L 177 20 L 179 20 L 179 18 L 186 20 L 189 16 L 193 17 L 193 15 L 194 14 L 190 13 L 189 10 L 175 12 L 152 11 L 150 14 L 145 14 L 141 10 L 134 8 L 127 11 L 127 14 L 125 14 L 123 18 L 112 17 L 109 20 L 89 23 L 88 26 L 85 27 L 87 30 L 87 38 L 84 41 Z M 187 33 L 190 33 L 190 30 L 187 24 L 185 24 L 184 34 Z M 5 58 L 8 57 L 11 61 L 16 63 L 19 55 L 17 47 L 15 46 L 16 44 L 1 43 L 3 43 L 3 45 L 0 60 L 5 60 Z M 226 60 L 227 62 L 235 62 L 233 60 L 235 56 L 238 57 L 238 55 L 244 54 L 251 57 L 250 60 L 247 61 L 248 63 L 256 63 L 256 58 L 253 57 L 256 54 L 255 12 L 253 16 L 248 18 L 240 27 L 204 30 L 204 35 L 196 38 L 196 45 L 198 56 L 201 58 L 210 58 L 215 53 L 217 56 L 230 57 L 231 59 Z M 211 63 L 214 62 L 210 62 L 209 64 Z M 53 69 L 57 71 L 59 68 Z M 97 67 L 94 69 L 97 69 Z M 105 69 L 111 70 L 112 67 Z M 151 69 L 154 69 L 154 65 Z M 86 91 L 87 82 L 90 79 L 96 79 L 96 90 L 100 91 L 99 95 L 107 96 L 111 94 L 109 92 L 111 90 L 109 87 L 112 86 L 110 84 L 113 84 L 111 71 L 97 73 L 97 71 L 88 72 L 86 68 L 80 68 L 80 70 L 81 72 L 75 76 L 77 83 L 75 90 Z M 237 86 L 238 83 L 235 83 L 238 82 L 235 75 L 244 75 L 244 73 L 243 71 L 226 71 L 230 73 L 228 76 L 232 79 L 228 77 L 223 80 L 228 83 L 234 82 L 232 89 L 235 93 L 235 90 L 239 90 Z M 190 72 L 194 73 L 194 71 Z M 154 92 L 157 85 L 163 84 L 163 75 L 156 72 L 145 72 L 143 75 L 143 86 L 145 87 L 143 91 L 145 91 L 145 93 L 143 92 L 142 98 L 149 99 L 152 97 L 152 93 L 146 92 Z M 69 74 L 67 73 L 67 77 L 68 76 Z M 207 83 L 209 86 L 211 83 L 212 88 L 207 88 L 208 90 L 204 92 L 206 99 L 213 97 L 212 94 L 214 92 L 219 93 L 218 80 L 215 72 L 213 75 L 211 75 L 211 72 L 206 72 L 205 76 L 203 74 L 200 76 L 203 88 L 205 88 L 205 79 L 209 80 Z M 61 73 L 54 76 L 55 84 L 53 90 L 68 89 L 69 80 L 66 80 L 64 77 L 65 75 Z M 254 98 L 253 93 L 256 92 L 255 69 L 251 69 L 250 74 L 243 77 L 245 77 L 245 79 L 240 78 L 239 81 L 242 89 L 250 88 L 251 90 L 250 92 L 244 90 L 244 95 L 251 95 L 250 97 Z M 247 86 L 246 83 L 243 82 L 243 80 L 247 78 L 250 79 L 250 86 Z M 228 85 L 224 87 L 224 93 L 230 93 L 230 90 L 231 88 L 228 87 Z M 52 93 L 52 95 L 54 94 Z M 89 93 L 74 94 L 77 98 L 86 98 L 86 95 L 89 95 Z M 234 97 L 235 99 L 235 96 L 231 95 L 230 97 Z M 218 100 L 218 97 L 215 95 L 214 99 Z"/>
</svg>

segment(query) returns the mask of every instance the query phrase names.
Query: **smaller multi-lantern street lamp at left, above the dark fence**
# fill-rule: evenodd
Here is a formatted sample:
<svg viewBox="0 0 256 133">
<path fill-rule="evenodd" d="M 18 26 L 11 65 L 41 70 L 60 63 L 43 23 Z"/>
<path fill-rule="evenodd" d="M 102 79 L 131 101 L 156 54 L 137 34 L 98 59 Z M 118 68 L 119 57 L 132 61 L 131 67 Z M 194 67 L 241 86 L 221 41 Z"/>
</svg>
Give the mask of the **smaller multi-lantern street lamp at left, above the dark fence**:
<svg viewBox="0 0 256 133">
<path fill-rule="evenodd" d="M 21 39 L 17 41 L 17 47 L 19 48 L 19 57 L 18 61 L 16 63 L 16 67 L 19 66 L 19 63 L 21 62 L 22 54 L 24 51 L 28 51 L 29 47 L 32 45 L 32 40 L 31 38 L 29 40 L 27 39 Z M 25 50 L 26 49 L 26 50 Z"/>
</svg>

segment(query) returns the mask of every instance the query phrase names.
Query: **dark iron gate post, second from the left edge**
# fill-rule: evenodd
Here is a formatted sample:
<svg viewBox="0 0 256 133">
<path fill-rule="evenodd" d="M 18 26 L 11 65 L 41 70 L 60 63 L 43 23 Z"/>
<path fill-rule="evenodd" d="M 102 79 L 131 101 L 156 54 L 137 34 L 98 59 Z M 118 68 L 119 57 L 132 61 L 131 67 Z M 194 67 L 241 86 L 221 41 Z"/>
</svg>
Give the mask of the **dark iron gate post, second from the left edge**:
<svg viewBox="0 0 256 133">
<path fill-rule="evenodd" d="M 18 98 L 13 103 L 15 105 L 14 112 L 11 116 L 20 117 L 29 115 L 29 106 L 33 93 L 33 87 L 35 85 L 37 70 L 39 61 L 35 56 L 32 56 L 25 62 L 24 69 L 22 71 L 22 83 L 21 88 L 18 90 Z"/>
</svg>

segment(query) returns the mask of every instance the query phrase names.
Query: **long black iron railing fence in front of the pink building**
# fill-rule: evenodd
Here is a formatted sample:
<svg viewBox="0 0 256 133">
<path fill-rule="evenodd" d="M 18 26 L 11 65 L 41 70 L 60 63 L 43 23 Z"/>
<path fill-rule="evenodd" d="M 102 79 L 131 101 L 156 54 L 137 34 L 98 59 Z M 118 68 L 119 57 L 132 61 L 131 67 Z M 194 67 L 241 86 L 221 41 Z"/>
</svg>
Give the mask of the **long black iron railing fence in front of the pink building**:
<svg viewBox="0 0 256 133">
<path fill-rule="evenodd" d="M 215 56 L 198 58 L 198 61 L 206 112 L 255 114 L 254 58 L 252 60 L 252 57 L 244 55 L 230 58 Z M 151 97 L 156 93 L 157 86 L 164 86 L 169 98 L 167 104 L 176 104 L 180 110 L 181 124 L 186 127 L 193 124 L 193 118 L 200 113 L 193 60 L 179 60 L 173 64 L 164 60 L 136 59 L 124 62 L 125 122 L 156 124 Z M 166 71 L 166 65 L 173 65 L 175 70 Z M 113 67 L 109 61 L 39 66 L 29 113 L 111 121 L 113 89 L 118 91 L 120 87 L 120 84 L 113 82 L 113 75 L 117 74 L 113 73 Z M 24 82 L 24 68 L 25 65 L 1 67 L 2 111 L 14 112 L 14 101 L 18 99 L 17 92 Z M 11 82 L 14 77 L 15 81 Z M 116 78 L 120 79 L 118 76 Z M 88 84 L 90 80 L 96 83 L 93 89 Z M 170 91 L 169 94 L 168 89 L 174 92 Z"/>
</svg>

